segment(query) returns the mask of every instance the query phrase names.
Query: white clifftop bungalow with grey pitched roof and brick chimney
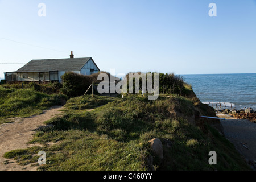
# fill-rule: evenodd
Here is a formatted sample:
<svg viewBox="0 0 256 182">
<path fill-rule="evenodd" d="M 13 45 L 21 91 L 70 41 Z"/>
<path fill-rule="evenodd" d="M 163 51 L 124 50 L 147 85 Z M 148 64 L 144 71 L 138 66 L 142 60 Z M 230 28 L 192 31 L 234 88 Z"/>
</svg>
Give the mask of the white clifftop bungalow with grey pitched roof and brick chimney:
<svg viewBox="0 0 256 182">
<path fill-rule="evenodd" d="M 5 73 L 6 82 L 61 82 L 66 72 L 81 75 L 92 75 L 100 72 L 92 57 L 74 58 L 71 52 L 69 59 L 31 60 L 15 72 Z"/>
</svg>

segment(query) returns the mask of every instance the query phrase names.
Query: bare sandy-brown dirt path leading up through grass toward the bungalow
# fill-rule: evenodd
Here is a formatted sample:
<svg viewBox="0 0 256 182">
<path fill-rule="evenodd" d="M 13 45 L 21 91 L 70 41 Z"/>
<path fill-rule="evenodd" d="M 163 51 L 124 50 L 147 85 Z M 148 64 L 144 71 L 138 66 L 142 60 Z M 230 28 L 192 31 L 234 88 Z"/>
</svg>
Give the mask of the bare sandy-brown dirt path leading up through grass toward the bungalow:
<svg viewBox="0 0 256 182">
<path fill-rule="evenodd" d="M 43 114 L 29 118 L 15 118 L 13 123 L 0 125 L 0 171 L 35 171 L 37 167 L 27 165 L 19 166 L 15 160 L 3 158 L 5 152 L 24 149 L 39 144 L 27 144 L 35 133 L 35 129 L 44 126 L 43 122 L 61 113 L 62 106 L 53 106 Z"/>
</svg>

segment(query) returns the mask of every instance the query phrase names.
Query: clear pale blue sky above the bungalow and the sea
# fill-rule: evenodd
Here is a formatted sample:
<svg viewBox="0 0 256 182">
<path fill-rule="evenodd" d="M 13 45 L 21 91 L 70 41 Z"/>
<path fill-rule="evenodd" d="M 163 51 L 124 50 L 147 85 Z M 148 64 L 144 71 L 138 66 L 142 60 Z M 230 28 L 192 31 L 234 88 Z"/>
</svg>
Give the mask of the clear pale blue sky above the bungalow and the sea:
<svg viewBox="0 0 256 182">
<path fill-rule="evenodd" d="M 39 3 L 46 17 L 38 16 Z M 217 17 L 210 17 L 210 3 Z M 93 57 L 102 71 L 255 73 L 255 0 L 0 0 L 0 63 Z M 24 64 L 0 64 L 3 72 Z"/>
</svg>

